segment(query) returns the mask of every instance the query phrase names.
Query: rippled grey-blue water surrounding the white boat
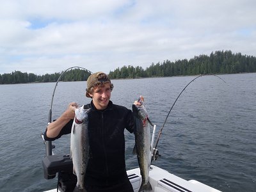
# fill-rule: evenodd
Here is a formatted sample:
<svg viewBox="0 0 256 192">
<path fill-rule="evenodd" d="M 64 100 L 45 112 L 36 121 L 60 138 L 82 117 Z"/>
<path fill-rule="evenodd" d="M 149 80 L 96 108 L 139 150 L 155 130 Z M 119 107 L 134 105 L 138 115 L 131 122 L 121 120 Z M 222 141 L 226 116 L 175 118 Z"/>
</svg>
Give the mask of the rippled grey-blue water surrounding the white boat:
<svg viewBox="0 0 256 192">
<path fill-rule="evenodd" d="M 221 191 L 256 191 L 256 74 L 199 77 L 182 93 L 168 116 L 153 164 L 183 179 Z M 111 100 L 131 109 L 140 95 L 157 133 L 173 102 L 195 77 L 113 80 Z M 0 85 L 0 190 L 45 191 L 40 138 L 47 125 L 55 83 Z M 52 119 L 67 104 L 86 104 L 85 82 L 58 83 Z M 126 134 L 127 169 L 138 167 L 133 134 Z M 55 154 L 68 154 L 70 136 L 57 141 Z"/>
</svg>

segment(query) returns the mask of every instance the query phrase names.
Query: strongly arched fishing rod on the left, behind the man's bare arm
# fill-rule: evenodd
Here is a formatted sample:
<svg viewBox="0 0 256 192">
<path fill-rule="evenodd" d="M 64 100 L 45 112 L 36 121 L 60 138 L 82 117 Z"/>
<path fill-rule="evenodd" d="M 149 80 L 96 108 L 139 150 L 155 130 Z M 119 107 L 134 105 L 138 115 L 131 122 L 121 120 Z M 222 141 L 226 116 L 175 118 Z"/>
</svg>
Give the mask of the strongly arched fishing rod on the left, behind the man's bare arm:
<svg viewBox="0 0 256 192">
<path fill-rule="evenodd" d="M 61 79 L 61 77 L 70 69 L 72 68 L 83 68 L 83 67 L 70 67 L 70 68 L 67 68 L 64 72 L 62 72 L 62 74 L 60 75 L 60 77 L 58 78 L 58 80 L 56 81 L 56 84 L 54 86 L 54 90 L 53 90 L 53 93 L 52 93 L 52 99 L 51 99 L 51 106 L 50 106 L 50 109 L 49 109 L 49 113 L 48 113 L 48 124 L 51 124 L 52 122 L 52 103 L 53 103 L 53 98 L 54 98 L 54 93 L 55 93 L 55 90 L 56 90 L 56 87 Z M 90 70 L 86 69 L 86 68 L 83 68 L 84 70 L 86 70 L 86 72 L 89 72 L 90 74 L 93 74 L 93 72 L 91 72 Z M 44 138 L 43 138 L 44 139 Z M 45 141 L 45 152 L 46 152 L 46 156 L 51 156 L 52 155 L 52 141 Z"/>
</svg>

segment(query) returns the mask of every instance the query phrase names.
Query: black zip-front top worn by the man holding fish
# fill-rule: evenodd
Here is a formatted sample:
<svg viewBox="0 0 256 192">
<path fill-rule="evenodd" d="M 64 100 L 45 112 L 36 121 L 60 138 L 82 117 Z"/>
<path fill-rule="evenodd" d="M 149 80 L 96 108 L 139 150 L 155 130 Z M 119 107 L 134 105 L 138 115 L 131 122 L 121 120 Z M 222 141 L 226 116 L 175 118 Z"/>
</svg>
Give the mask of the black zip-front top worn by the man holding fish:
<svg viewBox="0 0 256 192">
<path fill-rule="evenodd" d="M 88 113 L 88 134 L 90 144 L 90 159 L 86 169 L 85 183 L 96 186 L 108 186 L 127 179 L 125 169 L 125 138 L 124 129 L 134 131 L 132 111 L 124 106 L 118 106 L 109 101 L 108 108 L 103 111 L 95 109 L 93 103 L 84 106 L 91 108 Z M 68 134 L 72 129 L 70 120 L 56 138 Z"/>
</svg>

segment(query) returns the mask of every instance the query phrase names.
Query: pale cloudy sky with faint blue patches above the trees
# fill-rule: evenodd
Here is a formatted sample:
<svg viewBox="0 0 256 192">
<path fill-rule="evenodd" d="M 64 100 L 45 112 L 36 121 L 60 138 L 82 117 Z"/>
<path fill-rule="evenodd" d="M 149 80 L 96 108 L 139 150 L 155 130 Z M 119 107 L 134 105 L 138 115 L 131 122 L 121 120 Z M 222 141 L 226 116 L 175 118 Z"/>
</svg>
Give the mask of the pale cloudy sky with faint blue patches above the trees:
<svg viewBox="0 0 256 192">
<path fill-rule="evenodd" d="M 0 74 L 256 56 L 255 0 L 0 0 Z"/>
</svg>

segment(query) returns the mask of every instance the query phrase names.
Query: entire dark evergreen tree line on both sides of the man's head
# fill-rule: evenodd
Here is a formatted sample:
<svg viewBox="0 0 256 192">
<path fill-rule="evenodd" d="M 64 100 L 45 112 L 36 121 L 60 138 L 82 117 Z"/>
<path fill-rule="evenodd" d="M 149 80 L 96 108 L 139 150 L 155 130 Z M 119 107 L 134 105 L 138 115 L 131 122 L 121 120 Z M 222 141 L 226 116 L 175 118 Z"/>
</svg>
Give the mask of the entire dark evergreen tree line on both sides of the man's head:
<svg viewBox="0 0 256 192">
<path fill-rule="evenodd" d="M 111 79 L 134 79 L 141 77 L 172 77 L 193 76 L 199 74 L 237 74 L 256 72 L 256 58 L 254 56 L 232 53 L 232 51 L 215 51 L 209 56 L 200 55 L 190 60 L 177 60 L 175 62 L 163 61 L 152 63 L 145 70 L 142 67 L 131 65 L 116 68 L 109 72 Z M 14 71 L 8 74 L 0 74 L 0 84 L 16 83 L 47 83 L 56 82 L 63 72 L 38 76 L 33 73 Z M 72 68 L 68 70 L 61 81 L 86 81 L 90 72 Z"/>
</svg>

